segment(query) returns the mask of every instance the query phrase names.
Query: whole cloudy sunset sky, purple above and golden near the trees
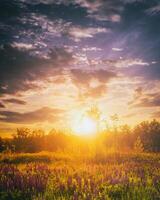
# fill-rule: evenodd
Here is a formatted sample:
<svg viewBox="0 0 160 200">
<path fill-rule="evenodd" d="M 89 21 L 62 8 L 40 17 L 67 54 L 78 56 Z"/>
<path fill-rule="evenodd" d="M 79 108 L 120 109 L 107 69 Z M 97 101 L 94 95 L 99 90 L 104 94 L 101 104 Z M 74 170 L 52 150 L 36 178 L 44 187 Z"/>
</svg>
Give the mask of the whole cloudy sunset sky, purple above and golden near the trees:
<svg viewBox="0 0 160 200">
<path fill-rule="evenodd" d="M 159 0 L 1 0 L 0 135 L 160 118 Z"/>
</svg>

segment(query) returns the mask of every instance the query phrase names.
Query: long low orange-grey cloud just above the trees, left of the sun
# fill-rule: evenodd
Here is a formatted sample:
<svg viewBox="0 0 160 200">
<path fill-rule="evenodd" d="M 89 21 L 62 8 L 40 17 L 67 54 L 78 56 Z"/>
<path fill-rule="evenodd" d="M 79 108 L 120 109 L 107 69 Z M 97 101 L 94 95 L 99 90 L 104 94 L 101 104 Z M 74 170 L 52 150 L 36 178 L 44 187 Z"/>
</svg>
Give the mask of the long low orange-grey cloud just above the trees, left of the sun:
<svg viewBox="0 0 160 200">
<path fill-rule="evenodd" d="M 0 121 L 19 124 L 39 123 L 46 121 L 55 122 L 59 119 L 59 115 L 62 112 L 64 111 L 49 107 L 43 107 L 27 113 L 0 111 Z"/>
</svg>

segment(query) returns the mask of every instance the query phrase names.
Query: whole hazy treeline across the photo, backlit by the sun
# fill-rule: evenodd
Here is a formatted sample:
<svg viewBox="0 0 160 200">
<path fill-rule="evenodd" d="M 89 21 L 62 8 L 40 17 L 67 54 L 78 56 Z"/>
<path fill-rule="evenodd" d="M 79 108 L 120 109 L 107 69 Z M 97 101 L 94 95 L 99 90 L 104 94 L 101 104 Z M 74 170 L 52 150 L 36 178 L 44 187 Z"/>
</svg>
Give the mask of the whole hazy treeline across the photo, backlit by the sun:
<svg viewBox="0 0 160 200">
<path fill-rule="evenodd" d="M 116 151 L 160 152 L 160 122 L 144 121 L 134 128 L 128 125 L 112 127 L 93 138 L 52 130 L 17 129 L 12 139 L 0 138 L 0 152 L 88 151 L 91 147 Z"/>
</svg>

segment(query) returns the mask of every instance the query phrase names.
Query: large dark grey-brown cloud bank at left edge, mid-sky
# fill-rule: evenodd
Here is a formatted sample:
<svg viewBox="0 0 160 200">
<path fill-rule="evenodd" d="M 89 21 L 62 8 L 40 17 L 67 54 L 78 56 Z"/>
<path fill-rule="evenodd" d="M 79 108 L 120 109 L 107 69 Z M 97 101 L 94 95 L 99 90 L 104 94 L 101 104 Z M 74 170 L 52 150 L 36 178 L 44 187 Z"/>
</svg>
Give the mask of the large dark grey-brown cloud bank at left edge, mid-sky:
<svg viewBox="0 0 160 200">
<path fill-rule="evenodd" d="M 71 60 L 72 55 L 63 48 L 52 49 L 43 58 L 5 45 L 0 49 L 0 95 L 38 88 L 37 81 L 54 76 Z"/>
</svg>

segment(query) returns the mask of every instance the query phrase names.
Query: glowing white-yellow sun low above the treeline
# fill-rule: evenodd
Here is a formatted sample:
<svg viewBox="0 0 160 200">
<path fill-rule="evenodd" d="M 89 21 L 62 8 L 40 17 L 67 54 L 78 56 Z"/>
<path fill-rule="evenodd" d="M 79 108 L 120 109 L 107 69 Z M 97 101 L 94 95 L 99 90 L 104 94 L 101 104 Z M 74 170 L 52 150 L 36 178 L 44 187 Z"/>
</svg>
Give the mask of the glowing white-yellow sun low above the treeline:
<svg viewBox="0 0 160 200">
<path fill-rule="evenodd" d="M 81 136 L 91 136 L 97 132 L 97 123 L 89 116 L 83 116 L 74 124 L 73 131 Z"/>
</svg>

